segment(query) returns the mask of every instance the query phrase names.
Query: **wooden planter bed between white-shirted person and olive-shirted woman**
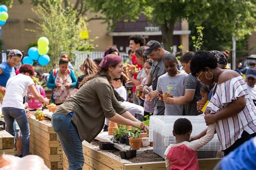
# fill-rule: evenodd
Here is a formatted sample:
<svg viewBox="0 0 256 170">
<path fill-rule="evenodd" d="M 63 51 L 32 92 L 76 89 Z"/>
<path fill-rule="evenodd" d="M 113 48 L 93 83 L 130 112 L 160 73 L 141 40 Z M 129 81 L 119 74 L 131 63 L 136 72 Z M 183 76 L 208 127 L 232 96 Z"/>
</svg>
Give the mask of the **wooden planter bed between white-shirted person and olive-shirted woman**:
<svg viewBox="0 0 256 170">
<path fill-rule="evenodd" d="M 29 118 L 30 153 L 44 159 L 44 163 L 51 169 L 63 169 L 63 148 L 53 131 L 51 120 L 38 121 L 33 116 Z"/>
</svg>

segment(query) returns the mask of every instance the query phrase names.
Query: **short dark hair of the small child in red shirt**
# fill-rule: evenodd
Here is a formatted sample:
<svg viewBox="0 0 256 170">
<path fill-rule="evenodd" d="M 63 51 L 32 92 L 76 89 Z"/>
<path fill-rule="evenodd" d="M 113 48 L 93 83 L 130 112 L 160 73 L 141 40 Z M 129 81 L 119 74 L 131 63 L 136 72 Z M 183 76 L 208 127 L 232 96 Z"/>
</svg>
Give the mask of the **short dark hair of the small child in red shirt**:
<svg viewBox="0 0 256 170">
<path fill-rule="evenodd" d="M 173 132 L 175 134 L 186 134 L 192 131 L 192 124 L 186 118 L 179 118 L 174 122 Z"/>
</svg>

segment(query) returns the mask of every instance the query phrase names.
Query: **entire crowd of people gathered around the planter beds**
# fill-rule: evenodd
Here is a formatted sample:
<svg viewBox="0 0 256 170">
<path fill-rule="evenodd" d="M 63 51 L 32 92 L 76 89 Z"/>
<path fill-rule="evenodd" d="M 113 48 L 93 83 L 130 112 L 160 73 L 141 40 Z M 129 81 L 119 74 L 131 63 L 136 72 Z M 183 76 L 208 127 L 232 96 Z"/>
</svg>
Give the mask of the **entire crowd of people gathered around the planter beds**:
<svg viewBox="0 0 256 170">
<path fill-rule="evenodd" d="M 0 65 L 0 103 L 6 131 L 16 137 L 15 121 L 21 130 L 19 156 L 29 154 L 30 111 L 49 104 L 46 86 L 52 90 L 51 103 L 59 105 L 52 115 L 52 127 L 71 169 L 82 169 L 82 141 L 91 142 L 107 130 L 109 120 L 147 131 L 149 127 L 138 120 L 146 115 L 203 114 L 208 128 L 194 137 L 190 137 L 189 120 L 174 123 L 176 144 L 165 152 L 169 169 L 198 169 L 196 151 L 214 132 L 225 156 L 255 137 L 255 64 L 251 63 L 243 78 L 239 70 L 228 68 L 228 51 L 185 52 L 178 60 L 156 40 L 146 43 L 140 35 L 129 40 L 129 60 L 123 61 L 118 49 L 110 46 L 103 58 L 86 58 L 78 78 L 68 55 L 62 55 L 59 67 L 50 73 L 35 74 L 31 65 L 24 64 L 15 76 L 14 67 L 23 55 L 19 50 L 9 52 L 7 61 Z M 133 86 L 132 103 L 127 85 Z"/>
</svg>

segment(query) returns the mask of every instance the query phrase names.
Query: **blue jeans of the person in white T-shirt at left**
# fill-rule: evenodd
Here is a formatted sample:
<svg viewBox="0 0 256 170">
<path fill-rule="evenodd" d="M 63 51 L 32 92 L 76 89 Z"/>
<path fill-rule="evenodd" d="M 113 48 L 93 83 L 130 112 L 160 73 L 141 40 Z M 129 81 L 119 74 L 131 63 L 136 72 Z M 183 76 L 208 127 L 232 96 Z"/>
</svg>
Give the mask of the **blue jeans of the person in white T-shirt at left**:
<svg viewBox="0 0 256 170">
<path fill-rule="evenodd" d="M 3 107 L 2 112 L 6 122 L 6 131 L 16 137 L 14 119 L 16 119 L 22 133 L 22 157 L 29 155 L 29 121 L 24 109 Z"/>
</svg>

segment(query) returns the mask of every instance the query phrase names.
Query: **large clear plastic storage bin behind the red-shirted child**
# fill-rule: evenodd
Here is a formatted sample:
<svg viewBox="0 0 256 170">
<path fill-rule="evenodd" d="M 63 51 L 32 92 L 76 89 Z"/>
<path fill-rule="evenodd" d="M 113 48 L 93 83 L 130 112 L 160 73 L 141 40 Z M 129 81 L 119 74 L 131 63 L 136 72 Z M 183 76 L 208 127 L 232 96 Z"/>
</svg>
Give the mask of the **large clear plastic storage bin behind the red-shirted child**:
<svg viewBox="0 0 256 170">
<path fill-rule="evenodd" d="M 164 152 L 167 146 L 175 143 L 175 137 L 172 134 L 173 124 L 178 118 L 186 118 L 192 123 L 191 136 L 199 134 L 205 128 L 203 116 L 176 116 L 176 115 L 152 115 L 150 117 L 149 140 L 154 141 L 153 152 L 164 158 Z M 217 134 L 205 146 L 199 148 L 198 158 L 214 158 L 220 151 L 220 142 Z"/>
</svg>

